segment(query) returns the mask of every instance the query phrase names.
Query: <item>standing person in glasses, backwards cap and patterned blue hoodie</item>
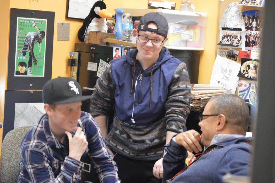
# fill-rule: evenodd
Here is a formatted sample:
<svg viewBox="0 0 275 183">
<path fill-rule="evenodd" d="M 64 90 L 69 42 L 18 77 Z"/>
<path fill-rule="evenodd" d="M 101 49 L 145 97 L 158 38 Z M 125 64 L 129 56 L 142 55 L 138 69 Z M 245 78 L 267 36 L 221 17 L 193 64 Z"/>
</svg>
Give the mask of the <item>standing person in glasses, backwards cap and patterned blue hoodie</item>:
<svg viewBox="0 0 275 183">
<path fill-rule="evenodd" d="M 164 145 L 186 128 L 192 94 L 186 65 L 169 54 L 168 23 L 147 13 L 138 25 L 137 49 L 112 60 L 97 80 L 91 115 L 122 182 L 161 182 Z M 112 129 L 106 116 L 114 106 Z"/>
</svg>

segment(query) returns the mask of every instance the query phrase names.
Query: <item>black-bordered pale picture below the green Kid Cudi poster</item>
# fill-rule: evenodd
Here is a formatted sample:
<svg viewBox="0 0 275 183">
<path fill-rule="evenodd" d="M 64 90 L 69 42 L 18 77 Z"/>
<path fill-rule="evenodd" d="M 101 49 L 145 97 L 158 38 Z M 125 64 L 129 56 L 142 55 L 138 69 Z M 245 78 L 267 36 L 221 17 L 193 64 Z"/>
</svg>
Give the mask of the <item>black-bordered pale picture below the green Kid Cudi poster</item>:
<svg viewBox="0 0 275 183">
<path fill-rule="evenodd" d="M 33 126 L 45 114 L 42 91 L 5 91 L 3 139 L 22 126 Z"/>
</svg>

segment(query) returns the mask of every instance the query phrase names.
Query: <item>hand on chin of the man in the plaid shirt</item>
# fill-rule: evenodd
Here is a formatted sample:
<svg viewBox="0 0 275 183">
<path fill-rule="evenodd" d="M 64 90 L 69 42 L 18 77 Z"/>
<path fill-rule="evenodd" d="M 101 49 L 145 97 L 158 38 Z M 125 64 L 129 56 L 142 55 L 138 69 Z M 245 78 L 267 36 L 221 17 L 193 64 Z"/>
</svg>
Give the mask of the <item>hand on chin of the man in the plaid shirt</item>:
<svg viewBox="0 0 275 183">
<path fill-rule="evenodd" d="M 84 135 L 84 132 L 80 127 L 77 127 L 74 137 L 70 132 L 65 132 L 69 139 L 69 157 L 80 161 L 81 156 L 87 149 L 88 142 Z"/>
</svg>

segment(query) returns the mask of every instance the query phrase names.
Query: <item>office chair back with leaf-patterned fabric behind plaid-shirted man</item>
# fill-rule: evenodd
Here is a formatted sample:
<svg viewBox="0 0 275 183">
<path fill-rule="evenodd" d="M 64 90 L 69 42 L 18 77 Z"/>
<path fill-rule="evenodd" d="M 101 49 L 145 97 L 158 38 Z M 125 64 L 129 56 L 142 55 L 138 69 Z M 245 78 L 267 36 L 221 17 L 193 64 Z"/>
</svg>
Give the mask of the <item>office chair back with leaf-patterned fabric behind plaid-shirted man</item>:
<svg viewBox="0 0 275 183">
<path fill-rule="evenodd" d="M 0 182 L 17 182 L 19 175 L 20 144 L 31 126 L 13 129 L 6 134 L 1 151 Z"/>
</svg>

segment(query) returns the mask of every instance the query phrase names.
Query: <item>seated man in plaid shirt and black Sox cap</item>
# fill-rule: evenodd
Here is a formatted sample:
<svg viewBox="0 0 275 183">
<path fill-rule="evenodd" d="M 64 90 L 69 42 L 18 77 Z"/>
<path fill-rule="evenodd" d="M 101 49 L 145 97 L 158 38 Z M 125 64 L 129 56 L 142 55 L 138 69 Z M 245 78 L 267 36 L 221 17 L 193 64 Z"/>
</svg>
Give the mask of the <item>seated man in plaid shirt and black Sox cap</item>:
<svg viewBox="0 0 275 183">
<path fill-rule="evenodd" d="M 43 87 L 44 114 L 22 140 L 18 182 L 80 182 L 83 159 L 97 168 L 100 182 L 119 182 L 117 166 L 90 114 L 82 112 L 79 83 L 68 77 Z"/>
</svg>

